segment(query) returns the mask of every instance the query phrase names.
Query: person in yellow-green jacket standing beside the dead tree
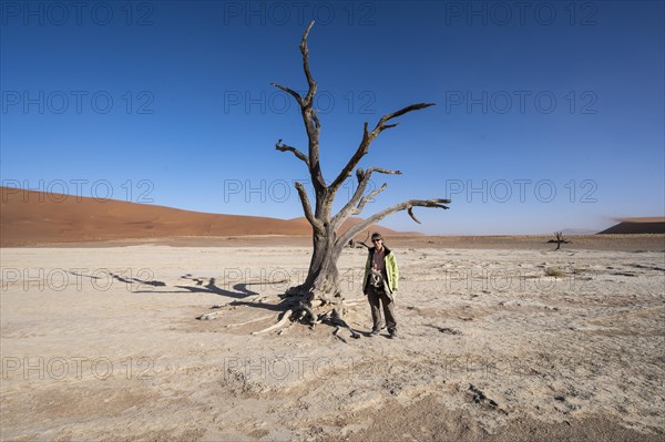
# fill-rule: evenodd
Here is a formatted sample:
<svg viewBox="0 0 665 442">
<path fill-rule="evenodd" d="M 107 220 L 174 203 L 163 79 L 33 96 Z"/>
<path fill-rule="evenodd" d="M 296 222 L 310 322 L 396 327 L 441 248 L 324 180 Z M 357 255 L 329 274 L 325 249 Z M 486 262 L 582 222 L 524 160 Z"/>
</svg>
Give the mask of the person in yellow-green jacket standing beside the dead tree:
<svg viewBox="0 0 665 442">
<path fill-rule="evenodd" d="M 371 308 L 374 327 L 371 336 L 377 336 L 383 328 L 379 304 L 383 305 L 386 327 L 390 338 L 397 338 L 397 320 L 395 319 L 395 292 L 397 291 L 397 260 L 395 255 L 383 245 L 383 237 L 379 233 L 371 235 L 374 247 L 369 248 L 369 256 L 365 265 L 362 292 Z"/>
</svg>

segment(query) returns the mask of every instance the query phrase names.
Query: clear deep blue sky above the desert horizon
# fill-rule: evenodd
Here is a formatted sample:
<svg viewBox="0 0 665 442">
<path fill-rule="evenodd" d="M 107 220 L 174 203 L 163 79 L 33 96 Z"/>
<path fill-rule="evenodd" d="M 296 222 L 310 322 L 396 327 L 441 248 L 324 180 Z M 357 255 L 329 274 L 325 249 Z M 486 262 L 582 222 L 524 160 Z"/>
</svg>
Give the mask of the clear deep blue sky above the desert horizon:
<svg viewBox="0 0 665 442">
<path fill-rule="evenodd" d="M 328 182 L 364 122 L 417 102 L 361 166 L 364 216 L 428 234 L 602 229 L 665 214 L 662 1 L 2 1 L 2 184 L 191 210 L 303 216 L 308 22 Z M 354 178 L 355 179 L 355 178 Z M 349 181 L 338 207 L 354 189 Z"/>
</svg>

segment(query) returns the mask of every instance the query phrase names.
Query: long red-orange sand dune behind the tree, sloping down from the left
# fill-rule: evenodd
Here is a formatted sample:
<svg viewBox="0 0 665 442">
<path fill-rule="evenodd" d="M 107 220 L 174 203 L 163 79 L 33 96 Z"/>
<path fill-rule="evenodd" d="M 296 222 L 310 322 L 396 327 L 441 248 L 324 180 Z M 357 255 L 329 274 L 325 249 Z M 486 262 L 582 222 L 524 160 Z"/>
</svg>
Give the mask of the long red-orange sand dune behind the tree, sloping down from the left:
<svg viewBox="0 0 665 442">
<path fill-rule="evenodd" d="M 0 246 L 173 236 L 311 235 L 304 218 L 219 215 L 0 186 Z M 346 230 L 361 219 L 351 218 Z M 385 235 L 393 230 L 372 226 Z"/>
</svg>

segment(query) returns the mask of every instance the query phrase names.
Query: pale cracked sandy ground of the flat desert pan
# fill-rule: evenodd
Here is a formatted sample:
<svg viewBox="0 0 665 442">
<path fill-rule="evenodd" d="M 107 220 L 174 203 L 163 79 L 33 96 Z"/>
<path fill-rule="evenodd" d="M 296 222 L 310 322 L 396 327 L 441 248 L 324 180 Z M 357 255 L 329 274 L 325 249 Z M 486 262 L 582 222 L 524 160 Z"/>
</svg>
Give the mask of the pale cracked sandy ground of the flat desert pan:
<svg viewBox="0 0 665 442">
<path fill-rule="evenodd" d="M 663 249 L 429 246 L 396 246 L 396 340 L 252 335 L 299 245 L 0 249 L 0 439 L 663 440 Z M 362 333 L 365 257 L 340 259 Z"/>
</svg>

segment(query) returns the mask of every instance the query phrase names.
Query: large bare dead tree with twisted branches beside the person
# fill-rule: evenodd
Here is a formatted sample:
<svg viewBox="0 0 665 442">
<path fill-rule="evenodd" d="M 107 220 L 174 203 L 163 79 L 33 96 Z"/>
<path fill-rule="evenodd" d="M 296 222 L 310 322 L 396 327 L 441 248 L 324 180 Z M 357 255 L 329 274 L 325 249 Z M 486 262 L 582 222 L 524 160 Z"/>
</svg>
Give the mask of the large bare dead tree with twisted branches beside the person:
<svg viewBox="0 0 665 442">
<path fill-rule="evenodd" d="M 449 199 L 441 198 L 409 199 L 371 215 L 344 233 L 340 232 L 340 227 L 346 219 L 350 216 L 359 215 L 368 202 L 386 189 L 387 184 L 383 184 L 381 187 L 366 193 L 372 174 L 401 174 L 400 171 L 389 171 L 380 167 L 369 167 L 367 169 L 357 167 L 360 160 L 368 153 L 371 142 L 375 141 L 381 132 L 397 126 L 397 123 L 392 122 L 393 119 L 409 112 L 429 107 L 433 105 L 433 103 L 411 104 L 399 111 L 388 113 L 378 121 L 372 130 L 369 129 L 368 123 L 366 122 L 356 152 L 348 160 L 335 179 L 331 183 L 327 183 L 326 179 L 324 179 L 319 162 L 319 133 L 321 125 L 317 116 L 317 110 L 314 109 L 317 82 L 314 80 L 309 70 L 309 50 L 307 48 L 307 35 L 313 25 L 314 21 L 309 23 L 300 41 L 303 69 L 308 84 L 307 93 L 300 95 L 293 89 L 277 83 L 270 83 L 287 92 L 296 100 L 300 107 L 305 131 L 307 132 L 308 145 L 306 154 L 297 147 L 282 143 L 282 140 L 276 143 L 275 148 L 282 152 L 290 152 L 296 158 L 301 161 L 307 167 L 314 186 L 315 203 L 313 207 L 303 183 L 295 183 L 305 217 L 311 225 L 314 253 L 311 255 L 309 270 L 305 282 L 287 290 L 287 296 L 295 297 L 295 299 L 298 300 L 293 313 L 297 313 L 298 310 L 305 310 L 310 317 L 314 315 L 311 310 L 313 307 L 326 305 L 335 308 L 341 304 L 342 299 L 339 290 L 337 260 L 345 246 L 347 246 L 356 235 L 362 233 L 370 225 L 378 223 L 386 216 L 400 210 L 407 210 L 415 222 L 420 223 L 413 215 L 413 207 L 438 207 L 446 209 L 448 208 L 446 204 L 450 203 Z M 358 181 L 358 187 L 349 202 L 337 214 L 332 214 L 331 209 L 335 195 L 346 179 L 351 176 L 354 169 L 356 169 L 355 173 Z"/>
</svg>

